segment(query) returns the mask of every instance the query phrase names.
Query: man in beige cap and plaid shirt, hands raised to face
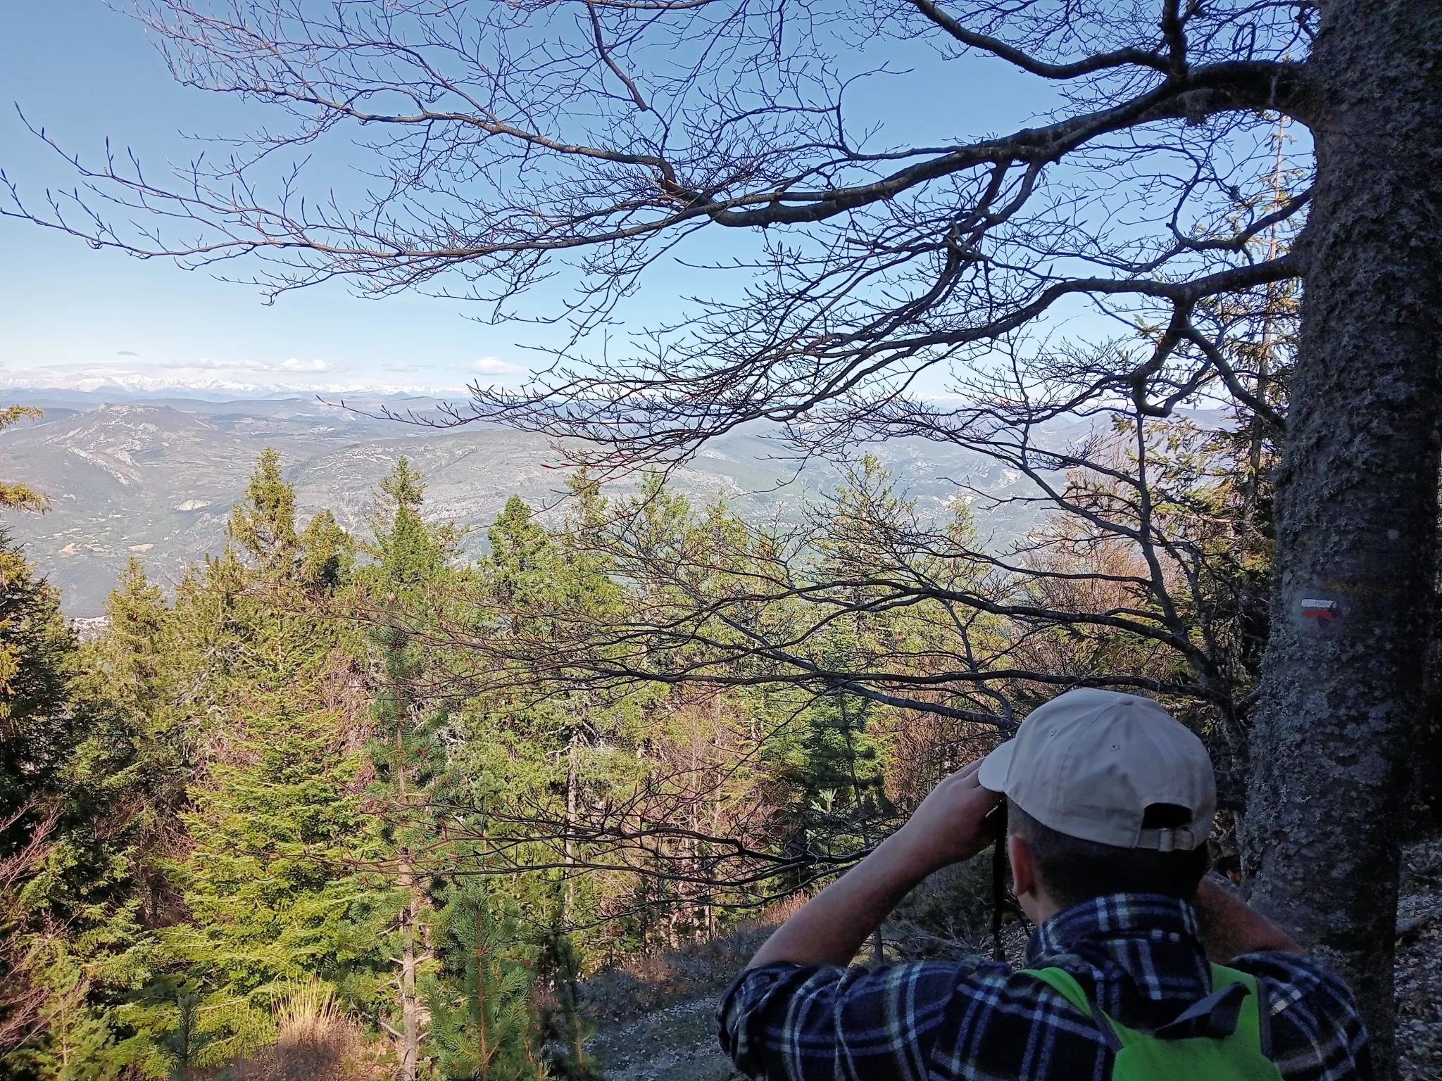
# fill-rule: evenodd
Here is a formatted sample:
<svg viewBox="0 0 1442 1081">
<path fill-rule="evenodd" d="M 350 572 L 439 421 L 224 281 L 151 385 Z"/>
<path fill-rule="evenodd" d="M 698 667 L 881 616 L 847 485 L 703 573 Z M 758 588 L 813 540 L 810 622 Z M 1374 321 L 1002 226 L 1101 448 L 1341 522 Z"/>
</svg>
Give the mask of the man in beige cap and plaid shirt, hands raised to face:
<svg viewBox="0 0 1442 1081">
<path fill-rule="evenodd" d="M 1017 899 L 1037 925 L 1027 970 L 846 967 L 913 886 L 992 842 L 1004 798 Z M 1105 1081 L 1113 1065 L 1158 1081 L 1370 1078 L 1347 987 L 1204 879 L 1214 813 L 1206 748 L 1159 705 L 1060 695 L 777 928 L 727 993 L 722 1046 L 771 1081 Z M 1208 1054 L 1242 1067 L 1187 1065 Z M 1139 1055 L 1182 1065 L 1158 1077 Z"/>
</svg>

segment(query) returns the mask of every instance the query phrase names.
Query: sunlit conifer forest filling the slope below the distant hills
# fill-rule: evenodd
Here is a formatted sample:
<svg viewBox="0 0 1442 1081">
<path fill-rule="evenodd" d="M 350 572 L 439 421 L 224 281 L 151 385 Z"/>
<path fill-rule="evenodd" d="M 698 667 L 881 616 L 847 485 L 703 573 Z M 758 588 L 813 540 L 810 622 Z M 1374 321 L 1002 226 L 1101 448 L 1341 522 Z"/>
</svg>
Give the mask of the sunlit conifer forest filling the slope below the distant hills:
<svg viewBox="0 0 1442 1081">
<path fill-rule="evenodd" d="M 862 458 L 805 526 L 577 468 L 467 562 L 405 458 L 352 535 L 267 451 L 225 551 L 173 592 L 133 561 L 85 641 L 7 543 L 9 1075 L 597 1078 L 604 973 L 764 924 L 1066 686 L 1207 738 L 1236 875 L 1273 447 L 1239 415 L 1089 453 L 1005 555 Z M 875 956 L 991 950 L 1019 912 L 976 873 Z"/>
</svg>

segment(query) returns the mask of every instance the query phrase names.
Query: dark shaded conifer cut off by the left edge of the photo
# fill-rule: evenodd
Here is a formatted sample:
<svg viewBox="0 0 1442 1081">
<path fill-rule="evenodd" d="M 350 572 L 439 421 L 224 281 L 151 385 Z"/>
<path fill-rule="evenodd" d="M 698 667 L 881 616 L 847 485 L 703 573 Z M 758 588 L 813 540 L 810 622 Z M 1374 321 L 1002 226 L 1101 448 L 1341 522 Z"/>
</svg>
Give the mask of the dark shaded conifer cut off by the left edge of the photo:
<svg viewBox="0 0 1442 1081">
<path fill-rule="evenodd" d="M 25 493 L 3 486 L 0 504 L 42 503 Z M 0 529 L 0 1064 L 14 1078 L 94 1068 L 112 1036 L 104 992 L 143 938 L 130 855 L 144 767 L 87 667 L 58 592 Z"/>
</svg>

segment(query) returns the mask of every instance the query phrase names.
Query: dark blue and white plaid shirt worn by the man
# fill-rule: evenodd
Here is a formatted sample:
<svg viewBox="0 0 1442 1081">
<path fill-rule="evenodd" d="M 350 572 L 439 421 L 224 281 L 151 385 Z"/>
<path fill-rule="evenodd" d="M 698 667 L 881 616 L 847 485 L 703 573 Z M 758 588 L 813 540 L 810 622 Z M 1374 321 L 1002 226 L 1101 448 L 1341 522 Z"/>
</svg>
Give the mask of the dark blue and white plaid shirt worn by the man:
<svg viewBox="0 0 1442 1081">
<path fill-rule="evenodd" d="M 1351 993 L 1318 961 L 1268 951 L 1230 964 L 1262 984 L 1268 1051 L 1285 1081 L 1371 1077 Z M 1151 894 L 1048 920 L 1027 966 L 1066 969 L 1107 1015 L 1148 1032 L 1211 992 L 1191 905 Z M 769 1081 L 1106 1081 L 1112 1071 L 1096 1022 L 1034 976 L 981 957 L 750 969 L 727 992 L 720 1025 L 737 1068 Z"/>
</svg>

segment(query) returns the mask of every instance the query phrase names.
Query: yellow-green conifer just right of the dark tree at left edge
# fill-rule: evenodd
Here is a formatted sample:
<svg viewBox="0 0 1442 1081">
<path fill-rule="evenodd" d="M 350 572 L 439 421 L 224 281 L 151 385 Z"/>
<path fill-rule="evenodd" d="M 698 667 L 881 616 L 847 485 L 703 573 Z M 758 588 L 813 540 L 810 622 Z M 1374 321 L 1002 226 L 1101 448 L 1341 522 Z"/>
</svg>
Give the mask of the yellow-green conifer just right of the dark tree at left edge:
<svg viewBox="0 0 1442 1081">
<path fill-rule="evenodd" d="M 174 621 L 138 561 L 105 614 L 102 634 L 75 659 L 84 739 L 65 771 L 66 814 L 50 859 L 69 873 L 46 876 L 65 934 L 50 940 L 42 970 L 48 1033 L 26 1055 L 37 1077 L 62 1081 L 108 1078 L 154 1058 L 149 1033 L 130 1023 L 127 997 L 153 973 L 154 928 L 180 914 L 163 855 L 180 833 L 176 813 L 198 749 L 179 695 L 185 657 Z"/>
</svg>

